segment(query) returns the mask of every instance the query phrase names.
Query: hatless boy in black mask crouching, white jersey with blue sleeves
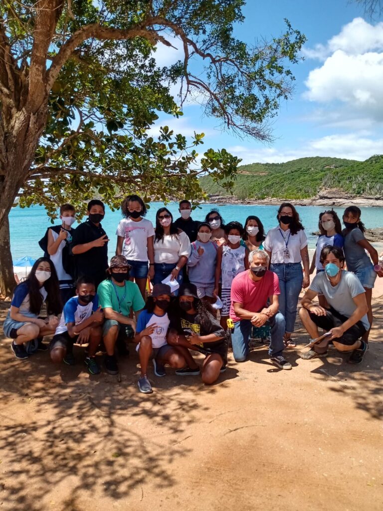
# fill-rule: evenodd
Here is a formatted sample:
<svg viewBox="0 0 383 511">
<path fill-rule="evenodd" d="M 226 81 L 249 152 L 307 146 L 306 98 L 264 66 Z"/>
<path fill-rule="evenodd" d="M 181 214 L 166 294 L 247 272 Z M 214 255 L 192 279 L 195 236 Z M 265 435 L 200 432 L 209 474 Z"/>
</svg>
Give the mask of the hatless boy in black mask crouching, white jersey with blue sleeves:
<svg viewBox="0 0 383 511">
<path fill-rule="evenodd" d="M 85 365 L 91 375 L 99 374 L 101 369 L 94 355 L 101 342 L 103 321 L 104 313 L 99 307 L 93 280 L 80 277 L 76 283 L 76 296 L 69 298 L 64 305 L 59 326 L 51 341 L 52 361 L 75 365 L 73 345 L 88 343 Z"/>
</svg>

